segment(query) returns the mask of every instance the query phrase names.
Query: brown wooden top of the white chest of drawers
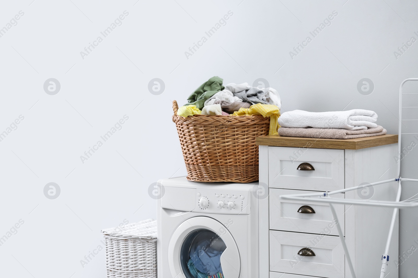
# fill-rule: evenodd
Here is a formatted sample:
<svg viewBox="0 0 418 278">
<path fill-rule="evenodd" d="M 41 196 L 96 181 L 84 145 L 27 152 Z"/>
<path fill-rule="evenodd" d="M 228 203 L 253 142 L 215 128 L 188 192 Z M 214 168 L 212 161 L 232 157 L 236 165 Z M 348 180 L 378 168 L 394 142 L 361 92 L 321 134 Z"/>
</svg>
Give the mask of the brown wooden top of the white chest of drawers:
<svg viewBox="0 0 418 278">
<path fill-rule="evenodd" d="M 356 139 L 321 139 L 285 137 L 279 135 L 266 135 L 256 138 L 257 145 L 342 150 L 358 150 L 395 143 L 398 143 L 398 135 L 395 134 L 385 134 Z"/>
</svg>

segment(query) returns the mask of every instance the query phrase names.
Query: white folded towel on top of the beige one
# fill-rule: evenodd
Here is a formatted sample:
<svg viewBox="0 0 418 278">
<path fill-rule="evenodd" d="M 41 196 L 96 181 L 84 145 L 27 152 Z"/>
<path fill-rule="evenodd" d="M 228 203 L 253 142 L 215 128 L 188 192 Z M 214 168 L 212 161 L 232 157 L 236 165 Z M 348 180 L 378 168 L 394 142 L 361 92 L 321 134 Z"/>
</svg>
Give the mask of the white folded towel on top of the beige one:
<svg viewBox="0 0 418 278">
<path fill-rule="evenodd" d="M 374 111 L 353 109 L 335 112 L 308 112 L 293 110 L 280 115 L 279 125 L 284 128 L 345 128 L 349 130 L 377 128 Z"/>
</svg>

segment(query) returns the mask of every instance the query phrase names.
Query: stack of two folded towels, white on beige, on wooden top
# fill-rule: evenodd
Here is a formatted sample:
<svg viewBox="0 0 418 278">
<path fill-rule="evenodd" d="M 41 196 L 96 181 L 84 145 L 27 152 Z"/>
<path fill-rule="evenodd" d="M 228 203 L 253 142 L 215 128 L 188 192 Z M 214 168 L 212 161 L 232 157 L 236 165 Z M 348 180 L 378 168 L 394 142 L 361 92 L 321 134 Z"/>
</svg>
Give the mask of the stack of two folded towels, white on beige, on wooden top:
<svg viewBox="0 0 418 278">
<path fill-rule="evenodd" d="M 377 125 L 374 111 L 353 109 L 334 112 L 293 110 L 283 113 L 278 123 L 280 136 L 351 139 L 386 134 Z"/>
</svg>

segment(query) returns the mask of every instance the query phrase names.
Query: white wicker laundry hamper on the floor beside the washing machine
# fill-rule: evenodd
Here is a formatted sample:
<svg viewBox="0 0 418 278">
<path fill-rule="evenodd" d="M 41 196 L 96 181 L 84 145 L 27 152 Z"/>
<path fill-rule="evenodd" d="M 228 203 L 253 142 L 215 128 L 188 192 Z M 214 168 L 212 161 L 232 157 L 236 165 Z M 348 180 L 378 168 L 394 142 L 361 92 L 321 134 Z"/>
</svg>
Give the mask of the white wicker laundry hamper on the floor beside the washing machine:
<svg viewBox="0 0 418 278">
<path fill-rule="evenodd" d="M 157 221 L 102 230 L 107 278 L 157 277 Z"/>
</svg>

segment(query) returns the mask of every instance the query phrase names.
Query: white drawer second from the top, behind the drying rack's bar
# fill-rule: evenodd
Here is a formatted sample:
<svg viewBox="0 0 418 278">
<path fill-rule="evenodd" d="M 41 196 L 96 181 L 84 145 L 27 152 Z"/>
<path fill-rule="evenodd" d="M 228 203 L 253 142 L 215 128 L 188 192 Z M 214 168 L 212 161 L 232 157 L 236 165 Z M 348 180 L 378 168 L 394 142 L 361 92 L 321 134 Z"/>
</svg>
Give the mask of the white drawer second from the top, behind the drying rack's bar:
<svg viewBox="0 0 418 278">
<path fill-rule="evenodd" d="M 270 188 L 270 229 L 299 233 L 338 235 L 338 230 L 335 225 L 336 222 L 333 222 L 329 204 L 312 203 L 308 201 L 309 199 L 306 202 L 279 199 L 280 195 L 305 193 L 314 193 L 314 191 Z M 332 198 L 344 199 L 344 193 L 332 195 Z M 312 208 L 315 213 L 299 213 L 298 210 L 305 205 Z M 302 211 L 308 212 L 310 208 L 306 208 L 305 210 L 302 208 Z M 344 205 L 334 204 L 334 208 L 344 233 Z"/>
</svg>

